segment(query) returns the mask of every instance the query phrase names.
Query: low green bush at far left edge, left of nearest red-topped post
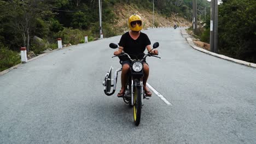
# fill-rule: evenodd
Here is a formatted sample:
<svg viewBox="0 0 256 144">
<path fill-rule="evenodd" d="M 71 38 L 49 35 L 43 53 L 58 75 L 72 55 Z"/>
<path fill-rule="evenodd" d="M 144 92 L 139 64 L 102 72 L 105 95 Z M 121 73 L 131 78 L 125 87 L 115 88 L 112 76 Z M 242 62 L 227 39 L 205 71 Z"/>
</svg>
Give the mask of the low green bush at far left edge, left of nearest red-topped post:
<svg viewBox="0 0 256 144">
<path fill-rule="evenodd" d="M 0 47 L 0 71 L 13 67 L 21 62 L 18 52 Z"/>
</svg>

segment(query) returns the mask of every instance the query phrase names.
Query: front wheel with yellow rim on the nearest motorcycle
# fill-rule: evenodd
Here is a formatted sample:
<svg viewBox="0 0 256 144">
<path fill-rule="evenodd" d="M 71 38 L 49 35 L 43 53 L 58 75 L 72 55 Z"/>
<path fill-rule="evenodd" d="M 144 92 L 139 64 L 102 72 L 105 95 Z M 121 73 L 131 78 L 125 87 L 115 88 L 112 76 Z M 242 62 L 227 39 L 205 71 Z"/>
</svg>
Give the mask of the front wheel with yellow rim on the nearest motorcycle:
<svg viewBox="0 0 256 144">
<path fill-rule="evenodd" d="M 133 119 L 136 126 L 141 121 L 141 88 L 135 87 L 133 97 Z"/>
</svg>

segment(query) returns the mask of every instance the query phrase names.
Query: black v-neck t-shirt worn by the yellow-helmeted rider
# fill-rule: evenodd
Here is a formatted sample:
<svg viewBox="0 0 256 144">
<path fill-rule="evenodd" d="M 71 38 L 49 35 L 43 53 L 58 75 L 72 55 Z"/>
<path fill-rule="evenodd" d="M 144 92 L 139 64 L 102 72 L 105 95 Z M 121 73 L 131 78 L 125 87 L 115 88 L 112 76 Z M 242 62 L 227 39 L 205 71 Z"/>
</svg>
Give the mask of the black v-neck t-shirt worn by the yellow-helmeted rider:
<svg viewBox="0 0 256 144">
<path fill-rule="evenodd" d="M 146 46 L 150 44 L 151 43 L 147 34 L 141 32 L 139 37 L 134 40 L 131 38 L 129 32 L 126 32 L 122 35 L 118 45 L 124 47 L 123 51 L 128 53 L 131 58 L 136 58 L 135 56 L 142 58 L 144 55 L 140 54 L 144 53 Z"/>
</svg>

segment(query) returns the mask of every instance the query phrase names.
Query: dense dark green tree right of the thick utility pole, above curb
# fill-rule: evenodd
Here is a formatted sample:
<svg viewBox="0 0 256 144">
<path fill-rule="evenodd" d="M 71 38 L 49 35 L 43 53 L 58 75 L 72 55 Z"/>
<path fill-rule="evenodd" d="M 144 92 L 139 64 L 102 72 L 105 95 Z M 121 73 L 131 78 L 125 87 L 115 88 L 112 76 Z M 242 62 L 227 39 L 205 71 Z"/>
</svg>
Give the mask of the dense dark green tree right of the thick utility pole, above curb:
<svg viewBox="0 0 256 144">
<path fill-rule="evenodd" d="M 256 1 L 229 0 L 219 7 L 221 53 L 256 62 Z"/>
</svg>

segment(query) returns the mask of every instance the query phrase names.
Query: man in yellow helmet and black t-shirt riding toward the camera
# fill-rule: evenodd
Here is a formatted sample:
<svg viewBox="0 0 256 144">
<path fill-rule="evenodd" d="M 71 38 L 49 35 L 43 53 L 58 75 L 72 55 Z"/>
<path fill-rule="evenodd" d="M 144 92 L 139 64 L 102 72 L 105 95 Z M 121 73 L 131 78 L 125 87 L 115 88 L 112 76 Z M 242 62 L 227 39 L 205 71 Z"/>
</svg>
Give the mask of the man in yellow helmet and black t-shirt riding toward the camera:
<svg viewBox="0 0 256 144">
<path fill-rule="evenodd" d="M 139 54 L 143 53 L 146 50 L 146 48 L 148 51 L 152 50 L 152 47 L 150 46 L 151 43 L 147 34 L 141 32 L 141 29 L 143 27 L 141 16 L 137 14 L 131 15 L 129 17 L 128 23 L 129 23 L 130 31 L 122 35 L 118 44 L 120 49 L 115 51 L 114 55 L 118 56 L 120 55 L 121 52 L 125 52 L 129 54 L 131 58 L 133 58 L 134 56 L 139 56 Z M 152 55 L 158 55 L 158 50 L 154 49 L 150 51 L 150 53 L 152 53 Z M 125 84 L 127 80 L 127 74 L 131 67 L 131 61 L 129 61 L 129 59 L 124 58 L 122 59 L 121 64 L 122 64 L 121 90 L 117 95 L 118 97 L 124 96 Z M 152 93 L 149 91 L 149 89 L 146 86 L 148 75 L 149 75 L 149 66 L 146 60 L 143 61 L 143 70 L 144 70 L 144 76 L 143 76 L 144 93 L 148 97 L 151 97 Z"/>
</svg>

